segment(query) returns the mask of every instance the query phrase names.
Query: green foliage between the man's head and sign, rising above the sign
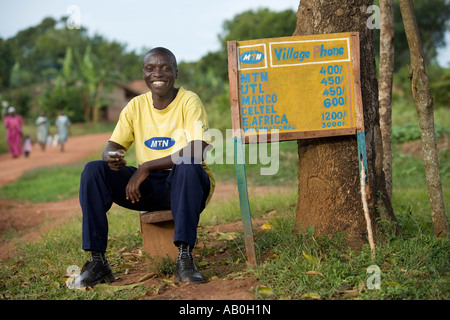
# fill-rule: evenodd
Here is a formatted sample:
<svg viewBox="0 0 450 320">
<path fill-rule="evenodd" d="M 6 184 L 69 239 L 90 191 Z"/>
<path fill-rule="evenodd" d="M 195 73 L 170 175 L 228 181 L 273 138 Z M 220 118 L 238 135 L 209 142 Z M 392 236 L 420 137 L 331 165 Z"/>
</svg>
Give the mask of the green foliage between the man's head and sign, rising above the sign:
<svg viewBox="0 0 450 320">
<path fill-rule="evenodd" d="M 231 128 L 229 116 L 227 41 L 290 36 L 296 25 L 295 12 L 269 9 L 248 10 L 223 24 L 221 48 L 197 62 L 179 63 L 178 84 L 196 92 L 202 99 L 212 128 Z"/>
</svg>

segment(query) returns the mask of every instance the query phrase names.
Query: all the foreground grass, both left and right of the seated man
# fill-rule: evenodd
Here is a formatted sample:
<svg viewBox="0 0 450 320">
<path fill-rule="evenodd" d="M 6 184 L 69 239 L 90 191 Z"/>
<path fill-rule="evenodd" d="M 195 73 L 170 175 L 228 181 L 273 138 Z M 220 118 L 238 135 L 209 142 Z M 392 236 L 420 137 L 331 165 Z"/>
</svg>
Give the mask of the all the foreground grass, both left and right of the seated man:
<svg viewBox="0 0 450 320">
<path fill-rule="evenodd" d="M 270 197 L 269 197 L 270 198 Z M 275 196 L 272 197 L 274 199 Z M 449 296 L 450 242 L 436 238 L 430 232 L 428 219 L 397 211 L 403 235 L 377 243 L 377 255 L 371 258 L 365 246 L 361 252 L 345 247 L 338 236 L 314 237 L 311 232 L 292 233 L 295 221 L 296 199 L 283 195 L 277 203 L 277 212 L 271 213 L 271 229 L 255 234 L 259 265 L 246 268 L 245 246 L 242 235 L 233 241 L 223 241 L 232 256 L 218 262 L 234 266 L 235 274 L 258 279 L 262 286 L 255 288 L 257 299 L 444 299 Z M 262 199 L 261 199 L 262 200 Z M 268 216 L 271 200 L 260 206 L 252 205 L 254 217 Z M 223 203 L 211 204 L 211 210 L 223 212 L 230 221 L 238 219 L 236 208 Z M 234 216 L 233 216 L 234 215 Z M 201 226 L 209 224 L 201 222 Z M 108 259 L 120 276 L 127 268 L 120 252 L 131 251 L 142 245 L 138 232 L 137 215 L 114 208 L 109 213 L 110 240 Z M 81 266 L 86 254 L 80 249 L 81 221 L 75 218 L 63 227 L 43 235 L 39 242 L 20 248 L 16 255 L 0 267 L 0 297 L 7 299 L 107 300 L 137 299 L 148 287 L 142 285 L 120 287 L 120 290 L 98 289 L 88 292 L 65 287 L 69 266 Z M 199 238 L 204 238 L 204 228 Z M 199 240 L 207 241 L 207 240 Z M 202 272 L 214 276 L 216 265 L 207 264 L 214 252 L 197 250 L 203 256 L 199 264 Z M 241 261 L 239 263 L 239 261 Z M 367 272 L 371 265 L 380 268 L 380 289 L 370 289 Z M 207 267 L 205 267 L 207 266 Z M 206 269 L 205 269 L 206 268 Z M 307 275 L 307 273 L 313 273 Z M 161 275 L 169 277 L 169 275 Z"/>
</svg>

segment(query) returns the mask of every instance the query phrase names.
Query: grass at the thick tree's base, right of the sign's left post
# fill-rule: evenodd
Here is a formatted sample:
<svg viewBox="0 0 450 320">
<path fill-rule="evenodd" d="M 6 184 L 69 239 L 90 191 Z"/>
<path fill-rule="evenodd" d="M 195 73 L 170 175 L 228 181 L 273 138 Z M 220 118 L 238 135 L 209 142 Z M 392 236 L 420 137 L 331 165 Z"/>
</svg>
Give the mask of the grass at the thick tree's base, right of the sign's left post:
<svg viewBox="0 0 450 320">
<path fill-rule="evenodd" d="M 292 234 L 293 212 L 273 221 L 273 228 L 256 239 L 263 263 L 251 273 L 271 290 L 260 298 L 448 300 L 449 239 L 422 230 L 428 222 L 407 212 L 397 217 L 405 235 L 378 242 L 374 259 L 368 246 L 356 253 L 339 237 Z M 372 265 L 380 270 L 380 289 L 370 286 Z"/>
</svg>

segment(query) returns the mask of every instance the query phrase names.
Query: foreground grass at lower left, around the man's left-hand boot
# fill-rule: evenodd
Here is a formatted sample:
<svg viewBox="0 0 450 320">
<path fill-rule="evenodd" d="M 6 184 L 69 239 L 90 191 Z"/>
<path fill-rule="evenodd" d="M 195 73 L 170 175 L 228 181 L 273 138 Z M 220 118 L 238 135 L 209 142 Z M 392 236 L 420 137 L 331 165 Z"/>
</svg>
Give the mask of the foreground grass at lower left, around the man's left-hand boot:
<svg viewBox="0 0 450 320">
<path fill-rule="evenodd" d="M 132 250 L 142 245 L 139 217 L 128 210 L 114 208 L 109 213 L 109 223 L 111 237 L 107 254 L 111 267 L 120 273 L 125 267 L 119 250 Z M 0 268 L 0 299 L 133 299 L 145 292 L 142 286 L 127 287 L 119 295 L 110 290 L 86 292 L 67 288 L 67 269 L 70 266 L 81 268 L 87 259 L 80 248 L 80 235 L 81 218 L 75 218 L 45 233 L 39 242 L 21 247 L 20 255 Z"/>
</svg>

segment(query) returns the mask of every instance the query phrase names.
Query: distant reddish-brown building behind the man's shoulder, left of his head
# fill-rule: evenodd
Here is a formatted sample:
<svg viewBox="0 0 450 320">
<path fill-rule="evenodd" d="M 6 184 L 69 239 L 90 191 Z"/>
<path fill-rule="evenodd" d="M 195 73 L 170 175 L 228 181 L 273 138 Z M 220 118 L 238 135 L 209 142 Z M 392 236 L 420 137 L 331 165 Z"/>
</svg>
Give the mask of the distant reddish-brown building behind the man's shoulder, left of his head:
<svg viewBox="0 0 450 320">
<path fill-rule="evenodd" d="M 131 99 L 148 91 L 144 80 L 134 80 L 130 83 L 117 82 L 112 91 L 104 93 L 105 99 L 110 103 L 101 108 L 101 120 L 116 122 L 119 120 L 120 112 Z"/>
</svg>

